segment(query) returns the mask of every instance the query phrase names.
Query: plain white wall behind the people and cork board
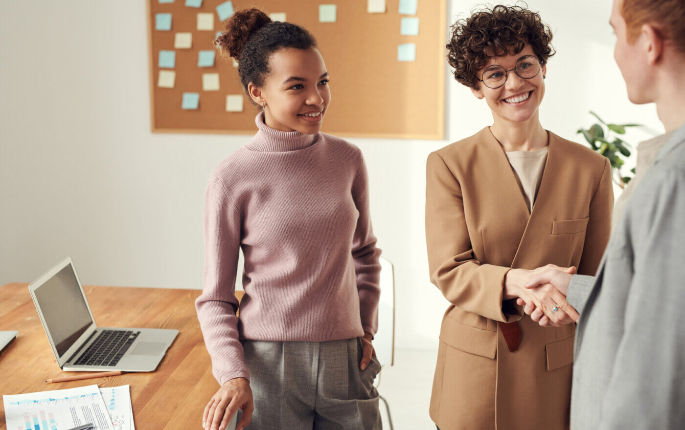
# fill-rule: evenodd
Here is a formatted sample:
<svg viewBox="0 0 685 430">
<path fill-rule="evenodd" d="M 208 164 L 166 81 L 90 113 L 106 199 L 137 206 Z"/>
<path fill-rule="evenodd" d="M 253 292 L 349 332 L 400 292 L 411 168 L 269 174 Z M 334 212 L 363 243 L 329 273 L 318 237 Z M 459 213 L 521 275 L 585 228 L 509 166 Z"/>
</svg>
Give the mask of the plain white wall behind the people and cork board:
<svg viewBox="0 0 685 430">
<path fill-rule="evenodd" d="M 662 131 L 653 106 L 627 100 L 610 3 L 529 1 L 558 51 L 540 118 L 577 142 L 590 109 L 647 124 L 628 135 L 635 143 Z M 449 16 L 477 4 L 451 0 Z M 0 285 L 71 255 L 85 284 L 201 287 L 204 187 L 247 139 L 150 132 L 144 1 L 3 1 L 0 46 Z M 491 121 L 450 76 L 445 141 L 351 139 L 369 167 L 379 246 L 395 263 L 399 347 L 436 347 L 447 306 L 428 281 L 425 158 Z"/>
</svg>

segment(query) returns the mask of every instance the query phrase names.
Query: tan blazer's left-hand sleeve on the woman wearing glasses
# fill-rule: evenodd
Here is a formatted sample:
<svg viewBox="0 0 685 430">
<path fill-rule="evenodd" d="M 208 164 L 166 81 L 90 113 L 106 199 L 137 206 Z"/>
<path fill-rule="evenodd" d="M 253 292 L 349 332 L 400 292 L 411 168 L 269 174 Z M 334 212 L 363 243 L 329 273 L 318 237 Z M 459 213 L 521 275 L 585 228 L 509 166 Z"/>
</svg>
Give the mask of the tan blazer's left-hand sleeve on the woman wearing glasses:
<svg viewBox="0 0 685 430">
<path fill-rule="evenodd" d="M 426 165 L 425 224 L 431 282 L 451 304 L 495 321 L 521 319 L 518 310 L 502 302 L 510 268 L 475 259 L 460 184 L 436 152 Z"/>
</svg>

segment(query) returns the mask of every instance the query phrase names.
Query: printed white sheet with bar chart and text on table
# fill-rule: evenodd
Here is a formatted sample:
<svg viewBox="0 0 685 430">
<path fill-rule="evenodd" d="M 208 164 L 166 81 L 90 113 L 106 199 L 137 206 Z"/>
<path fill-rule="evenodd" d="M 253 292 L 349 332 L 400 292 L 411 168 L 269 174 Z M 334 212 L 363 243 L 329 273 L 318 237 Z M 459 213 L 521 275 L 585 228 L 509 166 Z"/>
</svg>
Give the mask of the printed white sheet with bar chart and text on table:
<svg viewBox="0 0 685 430">
<path fill-rule="evenodd" d="M 8 430 L 68 430 L 92 422 L 114 430 L 97 385 L 3 396 Z"/>
</svg>

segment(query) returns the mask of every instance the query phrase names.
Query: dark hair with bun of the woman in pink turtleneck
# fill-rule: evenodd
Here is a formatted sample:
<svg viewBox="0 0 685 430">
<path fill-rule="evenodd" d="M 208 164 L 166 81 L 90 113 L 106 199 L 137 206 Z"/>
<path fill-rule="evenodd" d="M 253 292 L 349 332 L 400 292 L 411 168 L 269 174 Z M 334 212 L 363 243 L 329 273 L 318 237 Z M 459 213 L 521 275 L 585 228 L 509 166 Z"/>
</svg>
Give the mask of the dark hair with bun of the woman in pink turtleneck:
<svg viewBox="0 0 685 430">
<path fill-rule="evenodd" d="M 259 9 L 238 10 L 223 23 L 224 31 L 214 40 L 223 53 L 238 61 L 240 83 L 264 85 L 269 57 L 282 48 L 316 48 L 316 40 L 299 25 L 271 21 Z"/>
</svg>

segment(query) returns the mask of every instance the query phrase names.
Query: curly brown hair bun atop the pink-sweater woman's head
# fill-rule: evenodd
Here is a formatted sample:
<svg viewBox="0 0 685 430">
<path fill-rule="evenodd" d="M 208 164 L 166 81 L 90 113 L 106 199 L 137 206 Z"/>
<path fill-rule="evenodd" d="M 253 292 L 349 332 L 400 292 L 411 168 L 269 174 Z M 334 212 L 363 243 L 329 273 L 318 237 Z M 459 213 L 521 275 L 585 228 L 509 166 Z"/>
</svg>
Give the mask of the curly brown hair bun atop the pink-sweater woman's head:
<svg viewBox="0 0 685 430">
<path fill-rule="evenodd" d="M 269 23 L 269 15 L 257 8 L 238 10 L 223 22 L 224 31 L 214 40 L 214 44 L 238 59 L 250 36 Z"/>
</svg>

